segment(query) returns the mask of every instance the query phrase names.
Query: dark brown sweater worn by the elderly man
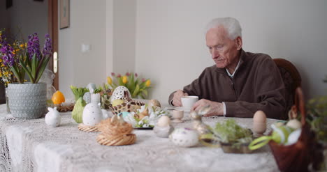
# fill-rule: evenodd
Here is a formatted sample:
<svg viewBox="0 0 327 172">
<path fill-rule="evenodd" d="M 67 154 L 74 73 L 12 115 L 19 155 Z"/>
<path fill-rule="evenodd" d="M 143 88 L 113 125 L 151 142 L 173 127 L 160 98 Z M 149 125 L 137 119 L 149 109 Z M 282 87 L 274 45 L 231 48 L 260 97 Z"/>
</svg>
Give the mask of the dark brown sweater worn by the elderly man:
<svg viewBox="0 0 327 172">
<path fill-rule="evenodd" d="M 256 111 L 262 110 L 268 118 L 280 118 L 285 113 L 284 83 L 267 54 L 241 50 L 240 65 L 233 79 L 225 68 L 212 65 L 185 86 L 184 92 L 198 95 L 199 99 L 225 102 L 226 116 L 252 118 Z M 172 99 L 173 93 L 169 102 Z"/>
</svg>

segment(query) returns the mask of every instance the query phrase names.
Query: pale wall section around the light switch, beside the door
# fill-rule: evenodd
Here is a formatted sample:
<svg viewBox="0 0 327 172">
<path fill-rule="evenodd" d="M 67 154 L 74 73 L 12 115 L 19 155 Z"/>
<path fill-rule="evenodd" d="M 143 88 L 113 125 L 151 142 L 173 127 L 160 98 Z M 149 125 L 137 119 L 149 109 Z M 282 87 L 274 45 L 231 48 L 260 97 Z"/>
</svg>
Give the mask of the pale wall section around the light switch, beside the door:
<svg viewBox="0 0 327 172">
<path fill-rule="evenodd" d="M 108 1 L 110 4 L 110 1 Z M 111 2 L 112 3 L 112 2 Z M 59 30 L 59 90 L 67 97 L 73 96 L 69 86 L 87 86 L 89 82 L 102 84 L 111 68 L 107 56 L 106 0 L 71 0 L 70 25 Z M 110 8 L 110 7 L 109 7 Z M 108 40 L 109 39 L 109 40 Z M 82 44 L 91 45 L 89 52 L 82 53 Z"/>
</svg>

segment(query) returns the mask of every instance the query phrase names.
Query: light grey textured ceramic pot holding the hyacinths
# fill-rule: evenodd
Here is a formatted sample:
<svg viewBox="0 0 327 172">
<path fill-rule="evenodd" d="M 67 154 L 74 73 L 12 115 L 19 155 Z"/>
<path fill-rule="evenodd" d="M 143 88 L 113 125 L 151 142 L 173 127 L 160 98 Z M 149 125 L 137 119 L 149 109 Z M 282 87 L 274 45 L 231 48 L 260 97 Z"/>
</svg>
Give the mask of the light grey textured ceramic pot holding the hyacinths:
<svg viewBox="0 0 327 172">
<path fill-rule="evenodd" d="M 33 119 L 47 109 L 47 84 L 8 84 L 9 108 L 15 118 Z"/>
</svg>

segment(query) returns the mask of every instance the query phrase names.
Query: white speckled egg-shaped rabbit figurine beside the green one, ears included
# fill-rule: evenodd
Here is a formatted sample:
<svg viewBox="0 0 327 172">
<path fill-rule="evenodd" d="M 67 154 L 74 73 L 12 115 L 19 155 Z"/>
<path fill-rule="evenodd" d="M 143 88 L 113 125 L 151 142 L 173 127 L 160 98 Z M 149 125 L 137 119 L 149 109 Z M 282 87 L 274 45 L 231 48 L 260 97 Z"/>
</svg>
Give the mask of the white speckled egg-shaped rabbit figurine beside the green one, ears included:
<svg viewBox="0 0 327 172">
<path fill-rule="evenodd" d="M 93 92 L 90 91 L 90 92 Z M 91 102 L 84 107 L 82 121 L 84 125 L 94 126 L 103 120 L 100 108 L 100 94 L 91 93 Z"/>
</svg>

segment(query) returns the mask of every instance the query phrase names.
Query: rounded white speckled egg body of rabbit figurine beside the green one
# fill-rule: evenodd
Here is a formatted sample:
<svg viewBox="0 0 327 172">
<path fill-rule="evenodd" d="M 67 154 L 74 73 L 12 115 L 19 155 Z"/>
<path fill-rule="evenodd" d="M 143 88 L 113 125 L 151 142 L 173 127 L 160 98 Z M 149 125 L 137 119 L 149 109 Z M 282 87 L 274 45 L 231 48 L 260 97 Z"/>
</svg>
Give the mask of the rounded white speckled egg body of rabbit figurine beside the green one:
<svg viewBox="0 0 327 172">
<path fill-rule="evenodd" d="M 94 126 L 103 120 L 102 111 L 98 104 L 89 103 L 83 109 L 82 116 L 83 124 L 88 126 Z"/>
</svg>

